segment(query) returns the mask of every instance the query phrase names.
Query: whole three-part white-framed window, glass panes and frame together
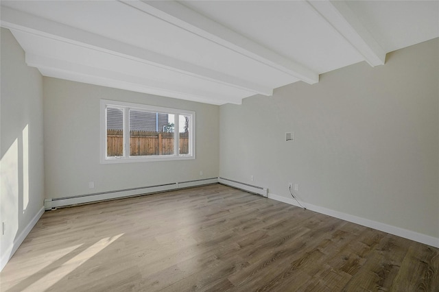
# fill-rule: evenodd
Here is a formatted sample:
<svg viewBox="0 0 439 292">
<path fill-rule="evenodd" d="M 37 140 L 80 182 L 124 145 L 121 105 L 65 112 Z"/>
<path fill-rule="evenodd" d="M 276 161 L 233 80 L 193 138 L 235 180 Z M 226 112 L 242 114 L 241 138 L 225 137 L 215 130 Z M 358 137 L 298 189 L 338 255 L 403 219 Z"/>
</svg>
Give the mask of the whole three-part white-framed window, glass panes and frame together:
<svg viewBox="0 0 439 292">
<path fill-rule="evenodd" d="M 101 100 L 101 162 L 195 158 L 195 112 Z"/>
</svg>

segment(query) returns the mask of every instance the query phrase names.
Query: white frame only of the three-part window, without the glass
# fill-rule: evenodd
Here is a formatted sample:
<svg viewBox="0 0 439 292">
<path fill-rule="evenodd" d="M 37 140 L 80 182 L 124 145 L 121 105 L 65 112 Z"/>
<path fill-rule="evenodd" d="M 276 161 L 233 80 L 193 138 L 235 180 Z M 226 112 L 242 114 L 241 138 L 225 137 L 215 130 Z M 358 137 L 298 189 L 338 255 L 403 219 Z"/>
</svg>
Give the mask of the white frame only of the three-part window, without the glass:
<svg viewBox="0 0 439 292">
<path fill-rule="evenodd" d="M 107 157 L 107 117 L 106 108 L 120 108 L 123 109 L 123 156 Z M 146 110 L 149 112 L 163 112 L 167 114 L 175 114 L 174 121 L 174 154 L 173 155 L 151 155 L 151 156 L 130 156 L 130 110 Z M 145 104 L 133 104 L 124 101 L 114 101 L 101 99 L 100 101 L 101 114 L 101 163 L 127 163 L 127 162 L 148 162 L 148 161 L 169 161 L 169 160 L 191 160 L 195 159 L 195 112 L 192 110 L 180 110 L 176 108 L 163 108 L 159 106 L 148 106 Z M 179 115 L 191 116 L 189 123 L 189 154 L 179 154 Z"/>
</svg>

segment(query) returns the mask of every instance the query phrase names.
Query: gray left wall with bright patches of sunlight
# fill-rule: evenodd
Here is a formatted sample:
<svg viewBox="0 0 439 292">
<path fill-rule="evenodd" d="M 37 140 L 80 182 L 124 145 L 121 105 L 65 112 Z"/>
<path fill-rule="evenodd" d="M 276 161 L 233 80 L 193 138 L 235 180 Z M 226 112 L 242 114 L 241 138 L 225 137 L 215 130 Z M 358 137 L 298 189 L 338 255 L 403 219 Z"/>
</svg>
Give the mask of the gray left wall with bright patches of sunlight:
<svg viewBox="0 0 439 292">
<path fill-rule="evenodd" d="M 43 77 L 37 69 L 25 64 L 23 49 L 4 28 L 1 28 L 0 127 L 0 229 L 1 223 L 5 223 L 5 234 L 0 235 L 3 265 L 9 259 L 14 241 L 27 235 L 23 232 L 42 210 L 44 200 Z"/>
</svg>

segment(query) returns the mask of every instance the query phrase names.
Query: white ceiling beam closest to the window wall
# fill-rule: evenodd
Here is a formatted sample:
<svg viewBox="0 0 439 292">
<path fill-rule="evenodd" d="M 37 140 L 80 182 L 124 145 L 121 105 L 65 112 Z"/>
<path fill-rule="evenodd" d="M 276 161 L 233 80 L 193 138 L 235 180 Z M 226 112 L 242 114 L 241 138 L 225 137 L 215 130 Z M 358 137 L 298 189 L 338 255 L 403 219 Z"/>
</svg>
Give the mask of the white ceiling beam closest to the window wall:
<svg viewBox="0 0 439 292">
<path fill-rule="evenodd" d="M 143 93 L 165 95 L 178 99 L 199 101 L 209 104 L 241 104 L 241 98 L 215 95 L 203 90 L 177 86 L 158 80 L 150 80 L 144 77 L 126 75 L 123 73 L 75 64 L 62 61 L 48 56 L 37 56 L 32 53 L 25 54 L 25 62 L 28 66 L 36 67 L 45 72 L 61 72 L 64 75 L 74 77 L 73 81 L 95 80 L 95 84 L 132 90 L 137 88 Z M 56 76 L 54 76 L 56 77 Z M 69 78 L 71 80 L 71 78 Z M 88 82 L 89 83 L 89 82 Z"/>
</svg>

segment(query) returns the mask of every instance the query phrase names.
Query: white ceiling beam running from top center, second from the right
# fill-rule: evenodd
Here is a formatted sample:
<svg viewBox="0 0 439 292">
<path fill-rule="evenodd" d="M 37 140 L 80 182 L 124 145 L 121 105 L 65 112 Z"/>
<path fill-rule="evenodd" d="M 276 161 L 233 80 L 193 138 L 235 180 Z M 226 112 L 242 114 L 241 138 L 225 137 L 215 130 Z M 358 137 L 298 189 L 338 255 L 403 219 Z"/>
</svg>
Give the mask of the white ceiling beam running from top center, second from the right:
<svg viewBox="0 0 439 292">
<path fill-rule="evenodd" d="M 176 1 L 119 1 L 308 84 L 318 82 L 318 73 L 306 66 L 285 58 Z"/>
</svg>

